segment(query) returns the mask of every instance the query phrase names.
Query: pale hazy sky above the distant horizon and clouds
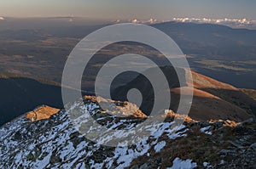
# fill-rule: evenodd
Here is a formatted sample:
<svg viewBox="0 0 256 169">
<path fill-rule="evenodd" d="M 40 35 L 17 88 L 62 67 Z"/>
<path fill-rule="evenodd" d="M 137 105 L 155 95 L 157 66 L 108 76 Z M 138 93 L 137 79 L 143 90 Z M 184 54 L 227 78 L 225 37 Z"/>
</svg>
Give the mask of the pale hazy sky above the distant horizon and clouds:
<svg viewBox="0 0 256 169">
<path fill-rule="evenodd" d="M 256 20 L 255 0 L 0 0 L 0 16 L 79 16 L 171 20 L 174 17 Z"/>
</svg>

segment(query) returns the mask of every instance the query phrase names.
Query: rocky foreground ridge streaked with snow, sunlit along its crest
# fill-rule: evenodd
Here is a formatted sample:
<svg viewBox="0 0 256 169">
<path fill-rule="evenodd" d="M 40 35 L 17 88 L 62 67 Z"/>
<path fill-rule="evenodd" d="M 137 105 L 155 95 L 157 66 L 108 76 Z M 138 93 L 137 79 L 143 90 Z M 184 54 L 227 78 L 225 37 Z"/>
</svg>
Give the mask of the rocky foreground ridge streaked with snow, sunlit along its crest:
<svg viewBox="0 0 256 169">
<path fill-rule="evenodd" d="M 7 123 L 0 128 L 0 168 L 256 168 L 253 116 L 239 123 L 186 117 L 174 132 L 175 114 L 170 111 L 166 121 L 143 127 L 150 132 L 148 138 L 127 147 L 102 146 L 73 127 L 71 118 L 86 121 L 88 113 L 117 133 L 150 118 L 135 104 L 112 102 L 118 110 L 102 111 L 94 97 L 85 97 L 49 119 L 31 121 L 21 115 Z M 70 111 L 77 116 L 68 115 Z"/>
</svg>

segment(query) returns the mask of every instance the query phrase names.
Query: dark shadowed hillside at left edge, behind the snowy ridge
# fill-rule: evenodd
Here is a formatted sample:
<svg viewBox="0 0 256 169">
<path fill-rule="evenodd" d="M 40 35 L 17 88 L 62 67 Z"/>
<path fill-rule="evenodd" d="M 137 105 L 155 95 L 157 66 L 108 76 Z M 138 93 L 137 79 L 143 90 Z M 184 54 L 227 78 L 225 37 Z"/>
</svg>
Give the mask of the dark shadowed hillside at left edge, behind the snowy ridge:
<svg viewBox="0 0 256 169">
<path fill-rule="evenodd" d="M 61 87 L 47 81 L 2 74 L 0 93 L 0 126 L 42 104 L 63 108 Z"/>
</svg>

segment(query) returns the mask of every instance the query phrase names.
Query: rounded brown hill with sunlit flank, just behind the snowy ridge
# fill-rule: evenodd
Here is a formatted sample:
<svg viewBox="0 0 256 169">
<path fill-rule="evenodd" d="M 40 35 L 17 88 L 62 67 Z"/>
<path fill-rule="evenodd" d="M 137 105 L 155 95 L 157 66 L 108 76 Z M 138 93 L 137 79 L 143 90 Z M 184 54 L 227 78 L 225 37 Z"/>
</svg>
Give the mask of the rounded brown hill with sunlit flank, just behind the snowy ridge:
<svg viewBox="0 0 256 169">
<path fill-rule="evenodd" d="M 256 115 L 255 100 L 242 93 L 236 87 L 195 72 L 192 72 L 192 87 L 191 82 L 185 81 L 187 70 L 180 70 L 180 74 L 183 76 L 181 82 L 178 82 L 177 74 L 172 67 L 162 67 L 161 70 L 169 82 L 170 88 L 168 91 L 171 92 L 172 96 L 170 109 L 175 112 L 179 103 L 180 87 L 183 87 L 187 91 L 193 90 L 194 92 L 192 107 L 189 111 L 189 116 L 194 120 L 230 119 L 244 121 L 250 115 Z M 148 70 L 148 73 L 153 72 L 154 69 Z M 136 79 L 127 85 L 113 90 L 113 99 L 126 100 L 126 93 L 131 88 L 137 88 L 143 93 L 144 98 L 141 110 L 146 114 L 150 112 L 150 109 L 152 109 L 151 105 L 154 102 L 152 98 L 154 98 L 155 91 L 153 91 L 152 86 L 143 76 L 137 76 Z"/>
</svg>

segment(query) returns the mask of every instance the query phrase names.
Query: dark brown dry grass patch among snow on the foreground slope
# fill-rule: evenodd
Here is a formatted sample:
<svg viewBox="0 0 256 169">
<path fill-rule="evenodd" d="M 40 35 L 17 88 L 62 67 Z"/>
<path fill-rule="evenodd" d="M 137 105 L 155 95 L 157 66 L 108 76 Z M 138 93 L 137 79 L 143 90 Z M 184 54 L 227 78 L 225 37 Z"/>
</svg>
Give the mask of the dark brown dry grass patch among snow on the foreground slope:
<svg viewBox="0 0 256 169">
<path fill-rule="evenodd" d="M 183 160 L 194 160 L 199 168 L 202 168 L 203 162 L 210 162 L 217 165 L 221 160 L 230 161 L 228 158 L 220 158 L 218 153 L 222 149 L 229 149 L 230 140 L 234 139 L 234 127 L 224 125 L 218 129 L 214 129 L 213 135 L 207 135 L 200 132 L 200 126 L 189 127 L 187 137 L 176 138 L 174 140 L 162 136 L 159 140 L 165 140 L 166 146 L 161 149 L 160 153 L 155 153 L 154 149 L 148 150 L 150 156 L 143 155 L 132 161 L 131 166 L 141 166 L 145 163 L 166 168 L 172 166 L 172 161 L 179 157 Z M 214 127 L 212 127 L 214 128 Z"/>
</svg>

